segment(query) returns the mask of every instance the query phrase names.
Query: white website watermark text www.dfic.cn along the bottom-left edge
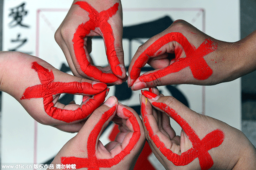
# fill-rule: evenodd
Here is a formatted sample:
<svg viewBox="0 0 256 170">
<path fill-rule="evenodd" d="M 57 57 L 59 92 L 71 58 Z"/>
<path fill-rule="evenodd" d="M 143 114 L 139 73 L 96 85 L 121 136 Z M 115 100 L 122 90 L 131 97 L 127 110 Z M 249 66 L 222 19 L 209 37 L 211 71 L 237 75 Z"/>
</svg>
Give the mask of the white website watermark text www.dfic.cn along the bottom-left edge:
<svg viewBox="0 0 256 170">
<path fill-rule="evenodd" d="M 1 164 L 1 170 L 74 170 L 76 164 Z"/>
</svg>

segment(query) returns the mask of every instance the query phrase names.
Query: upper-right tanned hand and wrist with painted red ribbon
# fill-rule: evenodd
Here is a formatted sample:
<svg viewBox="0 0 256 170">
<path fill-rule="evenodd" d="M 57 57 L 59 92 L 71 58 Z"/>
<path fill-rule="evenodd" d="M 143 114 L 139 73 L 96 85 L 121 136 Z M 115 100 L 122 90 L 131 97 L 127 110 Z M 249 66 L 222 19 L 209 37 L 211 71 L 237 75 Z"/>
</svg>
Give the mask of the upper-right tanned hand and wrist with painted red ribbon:
<svg viewBox="0 0 256 170">
<path fill-rule="evenodd" d="M 186 21 L 177 20 L 138 48 L 129 66 L 128 85 L 132 90 L 139 90 L 172 84 L 214 85 L 234 80 L 248 73 L 244 69 L 248 60 L 255 63 L 251 57 L 246 59 L 245 53 L 239 54 L 242 51 L 239 45 L 240 42 L 215 40 Z M 155 70 L 140 76 L 140 69 L 146 63 Z"/>
</svg>

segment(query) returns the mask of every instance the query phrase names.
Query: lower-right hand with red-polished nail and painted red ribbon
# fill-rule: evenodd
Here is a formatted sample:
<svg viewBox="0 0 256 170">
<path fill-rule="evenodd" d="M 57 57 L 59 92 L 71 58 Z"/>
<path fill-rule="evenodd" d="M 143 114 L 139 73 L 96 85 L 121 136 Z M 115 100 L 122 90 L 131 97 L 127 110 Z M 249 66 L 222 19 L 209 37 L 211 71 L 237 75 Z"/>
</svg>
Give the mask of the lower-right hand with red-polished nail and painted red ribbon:
<svg viewBox="0 0 256 170">
<path fill-rule="evenodd" d="M 198 114 L 172 96 L 160 96 L 156 88 L 152 91 L 142 91 L 143 126 L 151 150 L 166 169 L 255 168 L 256 149 L 240 130 Z M 182 128 L 180 136 L 169 117 Z"/>
</svg>

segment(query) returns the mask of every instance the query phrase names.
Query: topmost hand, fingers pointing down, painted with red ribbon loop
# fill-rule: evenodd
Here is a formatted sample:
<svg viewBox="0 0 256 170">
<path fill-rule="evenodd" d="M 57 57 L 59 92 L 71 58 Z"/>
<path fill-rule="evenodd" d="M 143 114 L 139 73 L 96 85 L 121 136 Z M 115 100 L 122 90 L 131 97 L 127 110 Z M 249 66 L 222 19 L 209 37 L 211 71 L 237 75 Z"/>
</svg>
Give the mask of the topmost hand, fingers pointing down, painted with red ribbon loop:
<svg viewBox="0 0 256 170">
<path fill-rule="evenodd" d="M 127 79 L 122 48 L 122 5 L 120 0 L 74 0 L 67 16 L 55 33 L 71 71 L 107 84 L 121 84 Z M 91 37 L 105 42 L 109 66 L 93 65 L 89 53 Z M 102 56 L 99 56 L 102 57 Z M 126 78 L 126 79 L 125 79 Z"/>
</svg>

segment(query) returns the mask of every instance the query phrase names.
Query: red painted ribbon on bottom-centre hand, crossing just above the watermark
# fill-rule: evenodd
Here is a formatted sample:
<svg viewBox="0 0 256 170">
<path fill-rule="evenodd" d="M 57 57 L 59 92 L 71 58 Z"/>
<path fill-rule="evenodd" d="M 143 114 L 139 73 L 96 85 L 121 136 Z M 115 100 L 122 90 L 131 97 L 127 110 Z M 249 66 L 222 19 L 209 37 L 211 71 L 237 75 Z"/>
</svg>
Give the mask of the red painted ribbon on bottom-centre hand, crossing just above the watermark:
<svg viewBox="0 0 256 170">
<path fill-rule="evenodd" d="M 106 111 L 102 115 L 102 119 L 96 124 L 96 126 L 91 131 L 88 141 L 87 141 L 87 158 L 77 158 L 77 157 L 61 157 L 62 164 L 76 164 L 76 168 L 84 168 L 87 167 L 88 170 L 99 170 L 100 167 L 110 168 L 113 165 L 118 164 L 122 161 L 125 156 L 127 156 L 130 151 L 136 146 L 137 142 L 140 139 L 140 125 L 137 122 L 136 117 L 126 108 L 123 108 L 122 111 L 126 117 L 128 117 L 129 121 L 132 124 L 134 133 L 130 139 L 128 145 L 116 156 L 112 159 L 98 159 L 96 156 L 96 140 L 97 136 L 99 136 L 100 131 L 102 130 L 102 126 L 109 119 L 110 116 L 113 115 L 116 110 L 116 106 Z"/>
</svg>

